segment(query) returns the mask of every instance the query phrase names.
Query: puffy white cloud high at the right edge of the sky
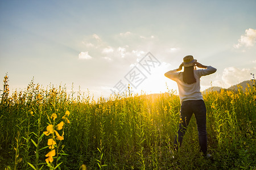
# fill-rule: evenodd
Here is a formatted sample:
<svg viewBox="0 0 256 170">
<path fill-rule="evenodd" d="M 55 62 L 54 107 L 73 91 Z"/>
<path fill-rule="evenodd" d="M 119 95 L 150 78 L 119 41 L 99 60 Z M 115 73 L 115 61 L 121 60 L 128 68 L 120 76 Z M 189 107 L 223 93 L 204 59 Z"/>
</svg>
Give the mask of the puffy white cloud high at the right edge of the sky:
<svg viewBox="0 0 256 170">
<path fill-rule="evenodd" d="M 256 42 L 256 29 L 249 28 L 245 30 L 245 35 L 241 36 L 238 40 L 238 44 L 234 45 L 235 48 L 240 48 L 241 46 L 251 47 Z"/>
</svg>

